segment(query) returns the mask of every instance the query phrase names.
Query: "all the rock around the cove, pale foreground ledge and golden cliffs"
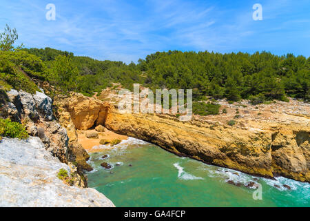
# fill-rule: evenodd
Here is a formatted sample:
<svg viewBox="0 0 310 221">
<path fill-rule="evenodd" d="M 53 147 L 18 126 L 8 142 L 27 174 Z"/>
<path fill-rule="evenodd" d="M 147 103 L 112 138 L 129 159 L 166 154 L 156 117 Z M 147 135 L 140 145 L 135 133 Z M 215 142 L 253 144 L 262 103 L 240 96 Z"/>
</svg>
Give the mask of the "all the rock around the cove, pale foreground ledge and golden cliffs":
<svg viewBox="0 0 310 221">
<path fill-rule="evenodd" d="M 3 138 L 0 143 L 0 148 L 5 150 L 0 155 L 3 158 L 0 167 L 4 171 L 0 179 L 5 185 L 15 180 L 14 186 L 8 187 L 14 198 L 10 200 L 3 194 L 1 206 L 22 206 L 20 200 L 25 202 L 27 197 L 33 200 L 23 205 L 114 206 L 101 193 L 87 189 L 87 176 L 83 171 L 92 171 L 92 166 L 87 164 L 90 150 L 86 148 L 85 151 L 83 137 L 87 142 L 94 140 L 96 144 L 107 142 L 113 146 L 109 137 L 125 140 L 131 136 L 207 164 L 262 177 L 280 175 L 301 182 L 310 181 L 308 104 L 302 108 L 302 114 L 289 114 L 287 107 L 282 107 L 281 113 L 258 110 L 265 118 L 254 117 L 256 110 L 250 106 L 242 111 L 244 115 L 236 125 L 230 126 L 225 121 L 231 117 L 229 114 L 234 115 L 231 110 L 240 104 L 222 104 L 227 108 L 227 115 L 194 116 L 189 122 L 181 122 L 175 115 L 120 113 L 111 100 L 103 102 L 79 93 L 54 100 L 43 91 L 31 95 L 22 90 L 10 90 L 7 94 L 8 102 L 1 107 L 1 117 L 23 123 L 31 137 L 27 141 Z M 276 107 L 280 105 L 275 104 Z M 12 148 L 12 143 L 20 143 L 25 148 Z M 22 157 L 14 159 L 13 155 Z M 109 165 L 101 166 L 107 168 Z M 56 177 L 61 168 L 70 174 L 71 186 Z M 19 172 L 10 174 L 8 171 Z M 34 173 L 41 175 L 38 178 Z M 35 193 L 29 186 L 45 186 L 37 189 L 39 201 L 34 202 Z M 43 203 L 40 199 L 48 194 L 46 188 L 58 195 Z M 23 197 L 21 189 L 27 189 L 29 194 Z M 77 196 L 70 201 L 70 195 Z"/>
</svg>

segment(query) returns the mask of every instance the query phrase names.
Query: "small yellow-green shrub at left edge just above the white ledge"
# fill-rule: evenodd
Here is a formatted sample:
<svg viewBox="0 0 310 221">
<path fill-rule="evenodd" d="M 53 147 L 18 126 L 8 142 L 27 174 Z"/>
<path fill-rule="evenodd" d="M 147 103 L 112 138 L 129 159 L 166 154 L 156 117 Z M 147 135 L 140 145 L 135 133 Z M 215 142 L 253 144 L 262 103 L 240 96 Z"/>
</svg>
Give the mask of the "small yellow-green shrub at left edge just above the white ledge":
<svg viewBox="0 0 310 221">
<path fill-rule="evenodd" d="M 12 122 L 9 118 L 0 118 L 0 136 L 27 139 L 28 133 L 27 131 L 25 131 L 25 127 L 23 126 L 23 124 L 19 124 L 18 122 Z"/>
</svg>

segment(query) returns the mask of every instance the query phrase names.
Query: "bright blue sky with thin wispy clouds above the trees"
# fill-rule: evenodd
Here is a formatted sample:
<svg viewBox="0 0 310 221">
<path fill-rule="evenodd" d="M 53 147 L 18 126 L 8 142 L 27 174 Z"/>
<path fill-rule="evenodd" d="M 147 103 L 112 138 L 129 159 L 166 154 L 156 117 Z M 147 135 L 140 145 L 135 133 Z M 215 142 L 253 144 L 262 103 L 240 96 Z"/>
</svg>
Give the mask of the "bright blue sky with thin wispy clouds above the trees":
<svg viewBox="0 0 310 221">
<path fill-rule="evenodd" d="M 262 20 L 252 17 L 255 3 Z M 6 23 L 25 48 L 127 64 L 167 50 L 310 56 L 310 0 L 1 0 L 0 30 Z"/>
</svg>

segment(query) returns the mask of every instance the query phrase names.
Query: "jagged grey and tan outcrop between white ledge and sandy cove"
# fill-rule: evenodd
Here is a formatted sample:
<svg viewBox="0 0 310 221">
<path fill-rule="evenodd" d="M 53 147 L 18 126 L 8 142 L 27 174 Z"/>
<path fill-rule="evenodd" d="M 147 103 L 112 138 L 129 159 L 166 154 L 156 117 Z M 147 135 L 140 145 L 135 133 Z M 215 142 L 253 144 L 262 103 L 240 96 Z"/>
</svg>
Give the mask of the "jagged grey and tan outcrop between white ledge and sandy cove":
<svg viewBox="0 0 310 221">
<path fill-rule="evenodd" d="M 38 136 L 43 142 L 45 150 L 50 151 L 61 162 L 77 164 L 78 168 L 74 174 L 76 175 L 75 179 L 79 181 L 74 184 L 86 187 L 87 177 L 83 175 L 82 169 L 89 169 L 91 166 L 84 165 L 86 164 L 85 157 L 80 165 L 79 157 L 76 157 L 75 154 L 83 152 L 84 155 L 87 155 L 87 153 L 81 146 L 76 148 L 74 144 L 69 143 L 66 129 L 54 118 L 52 99 L 38 91 L 31 95 L 22 90 L 10 90 L 7 95 L 8 102 L 4 108 L 6 116 L 3 117 L 10 117 L 16 122 L 23 123 L 29 135 Z"/>
</svg>

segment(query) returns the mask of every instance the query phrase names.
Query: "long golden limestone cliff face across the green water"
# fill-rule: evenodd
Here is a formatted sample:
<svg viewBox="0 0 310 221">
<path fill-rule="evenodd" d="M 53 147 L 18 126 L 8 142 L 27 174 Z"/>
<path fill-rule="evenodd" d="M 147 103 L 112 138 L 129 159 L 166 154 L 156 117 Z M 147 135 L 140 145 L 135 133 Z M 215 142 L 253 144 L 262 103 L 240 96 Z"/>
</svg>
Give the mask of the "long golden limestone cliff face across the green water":
<svg viewBox="0 0 310 221">
<path fill-rule="evenodd" d="M 178 155 L 187 155 L 245 173 L 310 182 L 309 119 L 267 122 L 247 119 L 238 126 L 193 117 L 180 122 L 170 115 L 121 114 L 114 106 L 74 95 L 63 109 L 76 128 L 103 124 L 108 129 L 152 142 Z M 90 113 L 87 106 L 90 104 Z M 70 122 L 70 120 L 69 120 Z"/>
</svg>

